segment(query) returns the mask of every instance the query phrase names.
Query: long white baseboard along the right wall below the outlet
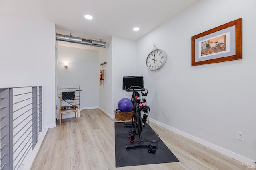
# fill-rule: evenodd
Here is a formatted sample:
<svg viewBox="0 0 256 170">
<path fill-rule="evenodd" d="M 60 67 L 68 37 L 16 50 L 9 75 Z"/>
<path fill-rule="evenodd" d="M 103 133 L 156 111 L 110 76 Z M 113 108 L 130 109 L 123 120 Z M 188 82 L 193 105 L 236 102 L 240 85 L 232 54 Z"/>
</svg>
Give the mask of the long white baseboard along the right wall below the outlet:
<svg viewBox="0 0 256 170">
<path fill-rule="evenodd" d="M 224 148 L 222 148 L 222 147 L 219 147 L 219 146 L 217 146 L 217 145 L 214 145 L 214 144 L 212 144 L 212 143 L 209 143 L 209 142 L 207 142 L 207 141 L 204 141 L 204 140 L 202 140 L 202 139 L 200 139 L 200 138 L 198 138 L 198 137 L 195 137 L 195 136 L 193 136 L 193 135 L 190 135 L 190 134 L 188 134 L 188 133 L 186 133 L 186 132 L 183 132 L 183 131 L 180 131 L 180 130 L 178 130 L 178 129 L 175 129 L 174 127 L 170 127 L 170 126 L 168 126 L 168 125 L 166 125 L 166 124 L 164 124 L 164 123 L 161 123 L 161 122 L 159 122 L 159 121 L 156 121 L 156 120 L 154 120 L 154 119 L 149 118 L 149 120 L 152 121 L 153 123 L 156 123 L 156 124 L 159 125 L 159 126 L 162 126 L 162 127 L 166 128 L 166 129 L 169 129 L 170 131 L 173 131 L 173 132 L 175 132 L 175 133 L 178 133 L 179 135 L 182 135 L 182 136 L 184 136 L 184 137 L 187 137 L 188 139 L 191 139 L 191 140 L 193 140 L 193 141 L 196 141 L 197 143 L 200 143 L 200 144 L 202 144 L 202 145 L 204 145 L 204 146 L 206 146 L 206 147 L 209 147 L 209 148 L 211 148 L 211 149 L 213 149 L 213 150 L 216 150 L 216 151 L 218 151 L 218 152 L 220 152 L 220 153 L 222 153 L 222 154 L 224 154 L 224 155 L 226 155 L 226 156 L 229 156 L 229 157 L 231 157 L 231 158 L 234 158 L 234 159 L 236 159 L 236 160 L 238 160 L 238 161 L 240 161 L 240 162 L 242 162 L 242 163 L 244 163 L 244 164 L 250 166 L 250 168 L 252 168 L 251 166 L 253 166 L 253 167 L 255 168 L 255 163 L 254 163 L 253 160 L 250 160 L 250 159 L 248 159 L 248 158 L 245 158 L 244 156 L 241 156 L 241 155 L 239 155 L 239 154 L 236 154 L 236 153 L 234 153 L 234 152 L 231 152 L 230 150 L 224 149 Z"/>
</svg>

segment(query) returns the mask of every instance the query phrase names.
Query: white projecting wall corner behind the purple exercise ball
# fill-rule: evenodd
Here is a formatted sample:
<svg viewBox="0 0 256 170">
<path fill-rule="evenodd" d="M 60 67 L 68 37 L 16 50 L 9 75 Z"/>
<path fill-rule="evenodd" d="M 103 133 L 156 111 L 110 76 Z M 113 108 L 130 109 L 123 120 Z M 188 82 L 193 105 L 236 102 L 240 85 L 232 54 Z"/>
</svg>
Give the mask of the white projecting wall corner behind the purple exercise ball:
<svg viewBox="0 0 256 170">
<path fill-rule="evenodd" d="M 122 90 L 123 76 L 136 76 L 136 41 L 112 37 L 106 50 L 100 51 L 100 63 L 106 61 L 105 79 L 100 86 L 99 107 L 114 118 L 114 110 L 122 98 L 132 92 Z"/>
</svg>

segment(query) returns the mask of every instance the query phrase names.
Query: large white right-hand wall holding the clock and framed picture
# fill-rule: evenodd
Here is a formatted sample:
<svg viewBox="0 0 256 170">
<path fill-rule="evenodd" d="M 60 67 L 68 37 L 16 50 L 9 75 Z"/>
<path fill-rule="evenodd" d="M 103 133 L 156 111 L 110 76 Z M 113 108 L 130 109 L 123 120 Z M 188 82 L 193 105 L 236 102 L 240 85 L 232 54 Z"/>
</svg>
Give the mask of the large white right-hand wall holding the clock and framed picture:
<svg viewBox="0 0 256 170">
<path fill-rule="evenodd" d="M 137 41 L 150 117 L 245 163 L 256 158 L 255 7 L 255 0 L 200 0 Z M 191 37 L 241 17 L 243 59 L 192 67 Z M 153 43 L 168 55 L 155 72 L 144 64 Z"/>
</svg>

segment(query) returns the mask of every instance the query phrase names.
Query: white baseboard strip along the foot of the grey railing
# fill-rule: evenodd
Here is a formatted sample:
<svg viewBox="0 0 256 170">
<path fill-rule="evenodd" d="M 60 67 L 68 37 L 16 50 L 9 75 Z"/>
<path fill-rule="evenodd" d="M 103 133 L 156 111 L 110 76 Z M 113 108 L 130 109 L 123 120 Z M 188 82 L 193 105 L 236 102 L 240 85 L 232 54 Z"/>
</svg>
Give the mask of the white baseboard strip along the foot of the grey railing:
<svg viewBox="0 0 256 170">
<path fill-rule="evenodd" d="M 26 164 L 22 168 L 22 170 L 30 170 L 34 159 L 36 158 L 36 155 L 38 153 L 38 150 L 40 149 L 40 146 L 42 145 L 42 142 L 44 141 L 44 137 L 48 131 L 48 128 L 44 129 L 39 135 L 38 135 L 38 140 L 36 143 L 36 146 L 34 147 L 32 153 L 30 153 L 30 156 L 28 157 Z"/>
</svg>

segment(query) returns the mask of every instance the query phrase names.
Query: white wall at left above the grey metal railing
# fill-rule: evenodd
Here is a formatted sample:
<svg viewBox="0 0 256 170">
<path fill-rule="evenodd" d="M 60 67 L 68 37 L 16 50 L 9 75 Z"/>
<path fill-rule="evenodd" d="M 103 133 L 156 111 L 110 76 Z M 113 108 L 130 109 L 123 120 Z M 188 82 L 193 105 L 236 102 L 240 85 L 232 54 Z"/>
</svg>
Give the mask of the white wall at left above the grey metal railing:
<svg viewBox="0 0 256 170">
<path fill-rule="evenodd" d="M 55 25 L 0 17 L 0 87 L 42 86 L 43 129 L 55 127 Z"/>
</svg>

